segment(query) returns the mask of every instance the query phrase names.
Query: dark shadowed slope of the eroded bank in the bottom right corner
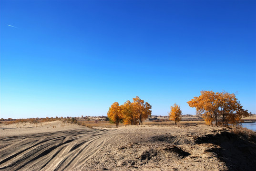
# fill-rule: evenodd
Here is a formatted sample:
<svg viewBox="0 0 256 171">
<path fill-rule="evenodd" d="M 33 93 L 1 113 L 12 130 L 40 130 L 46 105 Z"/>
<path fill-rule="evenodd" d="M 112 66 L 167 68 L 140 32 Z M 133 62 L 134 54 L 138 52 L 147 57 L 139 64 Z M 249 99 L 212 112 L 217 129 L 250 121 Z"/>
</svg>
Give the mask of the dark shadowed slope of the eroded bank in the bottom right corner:
<svg viewBox="0 0 256 171">
<path fill-rule="evenodd" d="M 213 148 L 206 150 L 206 152 L 214 152 L 231 171 L 254 171 L 255 169 L 255 136 L 247 137 L 223 131 L 198 137 L 195 142 L 213 144 Z"/>
</svg>

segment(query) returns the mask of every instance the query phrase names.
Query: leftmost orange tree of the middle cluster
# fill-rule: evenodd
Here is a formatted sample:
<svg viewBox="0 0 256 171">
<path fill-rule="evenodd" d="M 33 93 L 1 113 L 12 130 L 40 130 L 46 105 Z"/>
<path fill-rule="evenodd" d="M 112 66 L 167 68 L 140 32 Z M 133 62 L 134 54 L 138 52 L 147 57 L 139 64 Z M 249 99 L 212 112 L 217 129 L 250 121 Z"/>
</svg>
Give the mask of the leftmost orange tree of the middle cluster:
<svg viewBox="0 0 256 171">
<path fill-rule="evenodd" d="M 121 106 L 117 102 L 113 103 L 108 111 L 108 117 L 115 123 L 116 127 L 119 126 L 120 120 L 123 118 Z"/>
</svg>

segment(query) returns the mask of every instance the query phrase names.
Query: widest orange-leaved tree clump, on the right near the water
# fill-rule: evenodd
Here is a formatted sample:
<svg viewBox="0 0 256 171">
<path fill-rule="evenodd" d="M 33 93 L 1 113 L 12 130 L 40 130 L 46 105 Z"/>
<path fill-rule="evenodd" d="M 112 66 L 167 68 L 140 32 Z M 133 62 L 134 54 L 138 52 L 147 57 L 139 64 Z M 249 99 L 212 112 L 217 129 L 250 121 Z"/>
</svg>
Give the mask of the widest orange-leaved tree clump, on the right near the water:
<svg viewBox="0 0 256 171">
<path fill-rule="evenodd" d="M 196 112 L 203 114 L 205 123 L 218 125 L 220 121 L 222 125 L 236 124 L 243 122 L 242 117 L 248 116 L 247 110 L 244 110 L 240 102 L 236 99 L 235 94 L 227 92 L 201 91 L 201 95 L 194 97 L 187 102 L 190 107 L 195 107 Z"/>
</svg>

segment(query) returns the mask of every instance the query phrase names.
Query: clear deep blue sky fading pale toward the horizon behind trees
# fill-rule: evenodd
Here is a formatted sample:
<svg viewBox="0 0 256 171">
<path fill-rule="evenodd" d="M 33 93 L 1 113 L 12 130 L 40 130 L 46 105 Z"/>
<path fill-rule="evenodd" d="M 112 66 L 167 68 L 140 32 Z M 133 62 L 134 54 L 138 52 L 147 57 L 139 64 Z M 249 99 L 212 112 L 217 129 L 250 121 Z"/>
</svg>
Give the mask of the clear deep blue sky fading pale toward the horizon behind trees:
<svg viewBox="0 0 256 171">
<path fill-rule="evenodd" d="M 202 90 L 256 113 L 255 0 L 0 0 L 0 117 L 106 115 L 136 95 L 195 114 Z"/>
</svg>

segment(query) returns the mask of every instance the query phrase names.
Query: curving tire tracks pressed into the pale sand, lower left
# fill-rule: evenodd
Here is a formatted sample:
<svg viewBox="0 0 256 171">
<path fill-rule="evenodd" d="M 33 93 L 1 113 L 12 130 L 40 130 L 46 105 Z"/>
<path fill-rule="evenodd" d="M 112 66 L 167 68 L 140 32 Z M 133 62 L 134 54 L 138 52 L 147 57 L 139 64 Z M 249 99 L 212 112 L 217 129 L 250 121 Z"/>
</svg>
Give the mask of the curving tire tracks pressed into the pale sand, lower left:
<svg viewBox="0 0 256 171">
<path fill-rule="evenodd" d="M 0 170 L 53 171 L 72 170 L 98 152 L 111 137 L 111 130 L 81 127 L 55 133 L 5 137 L 1 141 Z M 5 143 L 15 142 L 12 145 Z M 17 141 L 20 143 L 17 143 Z"/>
</svg>

